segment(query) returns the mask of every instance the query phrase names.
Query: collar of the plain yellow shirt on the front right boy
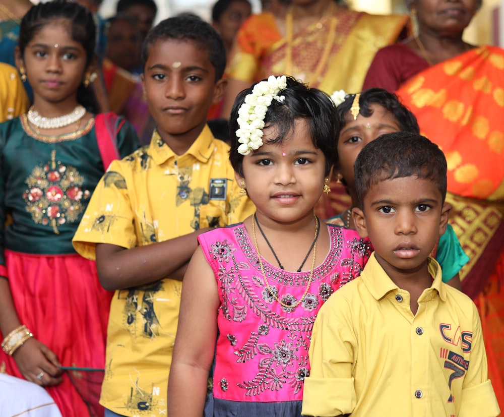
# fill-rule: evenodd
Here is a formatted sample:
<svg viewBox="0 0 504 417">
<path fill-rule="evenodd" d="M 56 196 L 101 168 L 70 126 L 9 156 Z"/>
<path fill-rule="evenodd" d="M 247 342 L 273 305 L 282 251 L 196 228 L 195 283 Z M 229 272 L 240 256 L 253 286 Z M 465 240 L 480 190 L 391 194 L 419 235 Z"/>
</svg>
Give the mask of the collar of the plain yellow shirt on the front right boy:
<svg viewBox="0 0 504 417">
<path fill-rule="evenodd" d="M 427 258 L 429 274 L 434 277 L 434 281 L 427 291 L 437 291 L 442 301 L 446 301 L 446 289 L 442 285 L 441 267 L 435 259 Z M 374 252 L 369 257 L 367 264 L 362 271 L 362 280 L 376 299 L 382 299 L 388 292 L 399 289 L 399 287 L 389 278 L 382 266 L 376 260 Z M 424 291 L 425 292 L 425 291 Z"/>
</svg>

